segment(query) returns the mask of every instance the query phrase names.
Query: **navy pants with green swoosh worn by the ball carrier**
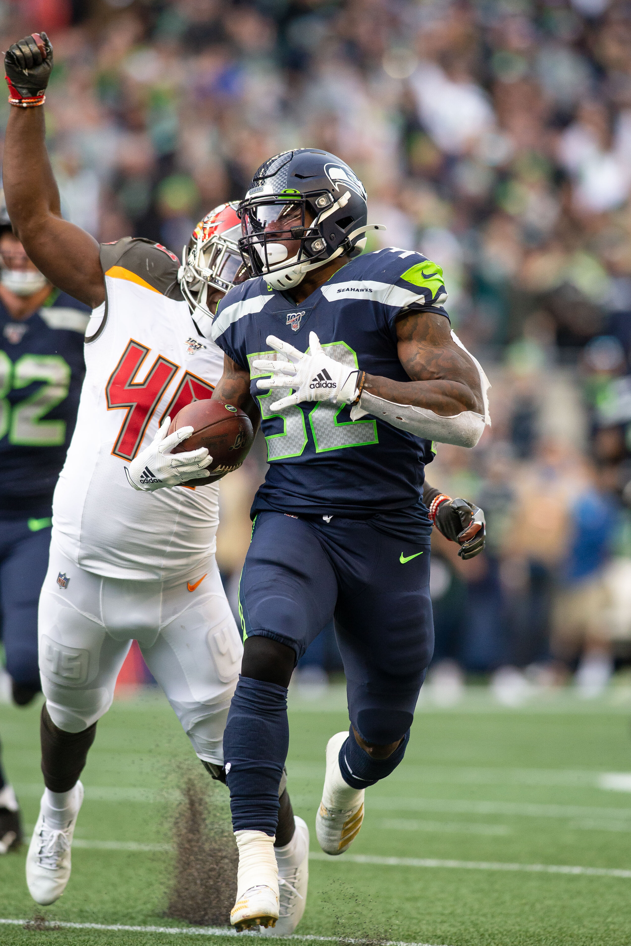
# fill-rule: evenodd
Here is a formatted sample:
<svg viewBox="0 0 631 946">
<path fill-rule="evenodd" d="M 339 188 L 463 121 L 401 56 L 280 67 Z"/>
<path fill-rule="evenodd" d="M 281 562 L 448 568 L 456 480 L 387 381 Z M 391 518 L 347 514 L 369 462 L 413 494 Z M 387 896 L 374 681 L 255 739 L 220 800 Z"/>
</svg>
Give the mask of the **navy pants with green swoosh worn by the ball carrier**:
<svg viewBox="0 0 631 946">
<path fill-rule="evenodd" d="M 429 537 L 404 542 L 357 519 L 260 513 L 239 613 L 244 639 L 278 640 L 296 660 L 334 618 L 351 723 L 367 743 L 406 734 L 433 652 Z"/>
</svg>

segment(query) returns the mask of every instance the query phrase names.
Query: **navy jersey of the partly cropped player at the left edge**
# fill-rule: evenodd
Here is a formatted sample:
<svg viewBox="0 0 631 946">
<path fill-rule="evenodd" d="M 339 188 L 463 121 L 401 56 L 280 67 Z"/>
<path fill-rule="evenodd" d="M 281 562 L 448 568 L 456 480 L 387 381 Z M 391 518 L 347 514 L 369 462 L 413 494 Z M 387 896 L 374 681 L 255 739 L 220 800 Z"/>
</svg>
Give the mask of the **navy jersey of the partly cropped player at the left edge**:
<svg viewBox="0 0 631 946">
<path fill-rule="evenodd" d="M 50 516 L 85 374 L 90 307 L 51 289 L 22 322 L 0 302 L 0 516 Z"/>
</svg>

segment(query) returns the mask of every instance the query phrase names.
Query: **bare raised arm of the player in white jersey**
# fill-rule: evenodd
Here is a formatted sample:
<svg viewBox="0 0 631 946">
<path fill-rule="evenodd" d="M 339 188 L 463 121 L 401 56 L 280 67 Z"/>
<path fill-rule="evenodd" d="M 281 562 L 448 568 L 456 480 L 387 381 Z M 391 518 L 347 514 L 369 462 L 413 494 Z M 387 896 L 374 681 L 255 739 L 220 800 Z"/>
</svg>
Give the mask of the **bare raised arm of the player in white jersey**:
<svg viewBox="0 0 631 946">
<path fill-rule="evenodd" d="M 96 239 L 61 219 L 46 151 L 44 108 L 10 108 L 2 177 L 9 218 L 27 256 L 53 285 L 93 308 L 105 299 Z"/>
</svg>

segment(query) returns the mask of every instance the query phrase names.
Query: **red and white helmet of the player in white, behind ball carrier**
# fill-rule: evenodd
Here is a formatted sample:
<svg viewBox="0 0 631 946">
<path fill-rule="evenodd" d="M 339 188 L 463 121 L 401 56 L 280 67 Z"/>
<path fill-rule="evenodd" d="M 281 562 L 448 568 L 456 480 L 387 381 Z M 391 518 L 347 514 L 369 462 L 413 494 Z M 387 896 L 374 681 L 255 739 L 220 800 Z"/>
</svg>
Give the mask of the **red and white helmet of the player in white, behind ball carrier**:
<svg viewBox="0 0 631 946">
<path fill-rule="evenodd" d="M 221 203 L 200 220 L 184 247 L 178 278 L 193 318 L 215 314 L 206 302 L 208 289 L 225 294 L 248 278 L 237 245 L 239 232 L 237 204 Z"/>
</svg>

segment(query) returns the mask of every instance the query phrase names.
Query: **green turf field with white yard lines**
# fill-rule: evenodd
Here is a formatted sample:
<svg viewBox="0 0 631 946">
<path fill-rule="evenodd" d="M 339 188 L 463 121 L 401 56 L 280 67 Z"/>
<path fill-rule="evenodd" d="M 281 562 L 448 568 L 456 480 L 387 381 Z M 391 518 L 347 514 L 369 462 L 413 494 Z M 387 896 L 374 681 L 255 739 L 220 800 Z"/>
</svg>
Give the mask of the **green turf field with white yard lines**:
<svg viewBox="0 0 631 946">
<path fill-rule="evenodd" d="M 42 791 L 38 712 L 0 707 L 9 776 L 31 825 Z M 358 840 L 348 854 L 328 858 L 313 822 L 324 745 L 347 726 L 343 692 L 332 688 L 318 702 L 294 699 L 289 790 L 311 829 L 314 855 L 297 934 L 447 946 L 628 946 L 631 777 L 615 774 L 631 772 L 630 719 L 622 688 L 597 703 L 562 693 L 519 710 L 501 709 L 482 688 L 452 710 L 424 700 L 405 762 L 367 793 Z M 196 768 L 160 695 L 116 702 L 98 724 L 84 772 L 73 876 L 61 901 L 37 912 L 48 920 L 182 930 L 182 921 L 164 916 L 172 879 L 168 825 L 191 764 Z M 123 850 L 108 847 L 112 842 Z M 0 858 L 0 919 L 36 912 L 25 853 Z M 189 938 L 0 924 L 3 946 Z"/>
</svg>

